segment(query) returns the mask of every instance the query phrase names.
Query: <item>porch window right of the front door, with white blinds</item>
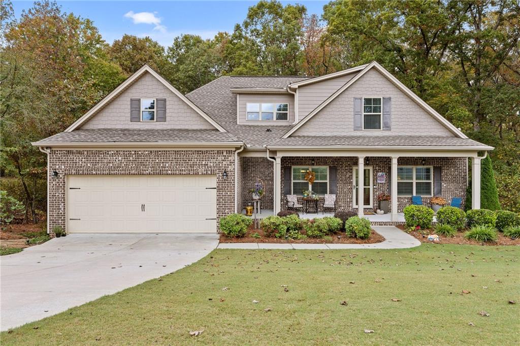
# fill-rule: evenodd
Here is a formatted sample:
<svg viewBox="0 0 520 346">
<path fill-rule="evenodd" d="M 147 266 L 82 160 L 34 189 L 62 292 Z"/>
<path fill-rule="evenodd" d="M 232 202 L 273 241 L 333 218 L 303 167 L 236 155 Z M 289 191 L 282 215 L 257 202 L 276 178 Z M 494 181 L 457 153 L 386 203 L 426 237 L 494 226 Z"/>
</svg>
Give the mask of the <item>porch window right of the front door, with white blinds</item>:
<svg viewBox="0 0 520 346">
<path fill-rule="evenodd" d="M 398 167 L 397 196 L 432 196 L 432 173 L 431 166 Z"/>
</svg>

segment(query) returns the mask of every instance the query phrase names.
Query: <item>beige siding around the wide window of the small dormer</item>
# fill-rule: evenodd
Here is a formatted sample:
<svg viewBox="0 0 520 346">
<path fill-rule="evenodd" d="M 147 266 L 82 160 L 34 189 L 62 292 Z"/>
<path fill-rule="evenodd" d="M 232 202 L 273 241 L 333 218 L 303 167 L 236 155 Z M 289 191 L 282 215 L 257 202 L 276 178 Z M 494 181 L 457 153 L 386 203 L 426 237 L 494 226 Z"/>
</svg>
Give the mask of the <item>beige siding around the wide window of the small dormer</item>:
<svg viewBox="0 0 520 346">
<path fill-rule="evenodd" d="M 288 121 L 248 121 L 246 120 L 245 105 L 248 102 L 256 103 L 284 103 L 289 104 Z M 291 94 L 265 95 L 240 94 L 238 98 L 238 123 L 241 125 L 289 125 L 294 122 L 294 96 Z"/>
</svg>

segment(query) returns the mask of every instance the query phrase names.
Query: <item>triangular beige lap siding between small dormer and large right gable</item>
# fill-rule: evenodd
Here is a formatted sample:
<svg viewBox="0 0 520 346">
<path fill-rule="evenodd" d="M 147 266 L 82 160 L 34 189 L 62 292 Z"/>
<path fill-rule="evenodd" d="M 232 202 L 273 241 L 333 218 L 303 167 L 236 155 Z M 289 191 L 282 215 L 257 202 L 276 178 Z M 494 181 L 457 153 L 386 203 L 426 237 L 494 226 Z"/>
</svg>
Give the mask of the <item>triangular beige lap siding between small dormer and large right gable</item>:
<svg viewBox="0 0 520 346">
<path fill-rule="evenodd" d="M 356 73 L 350 73 L 323 82 L 304 85 L 298 88 L 298 118 L 302 120 L 326 100 L 337 89 L 354 78 Z"/>
</svg>

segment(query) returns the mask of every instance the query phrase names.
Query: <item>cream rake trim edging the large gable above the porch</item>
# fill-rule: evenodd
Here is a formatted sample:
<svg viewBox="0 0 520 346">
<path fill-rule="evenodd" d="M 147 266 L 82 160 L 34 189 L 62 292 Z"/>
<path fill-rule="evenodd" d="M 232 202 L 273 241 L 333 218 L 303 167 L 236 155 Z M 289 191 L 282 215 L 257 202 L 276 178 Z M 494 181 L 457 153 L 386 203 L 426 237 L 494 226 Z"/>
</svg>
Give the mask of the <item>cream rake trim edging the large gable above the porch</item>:
<svg viewBox="0 0 520 346">
<path fill-rule="evenodd" d="M 311 111 L 308 116 L 306 116 L 302 121 L 298 122 L 296 126 L 294 126 L 291 130 L 289 130 L 287 133 L 283 135 L 282 138 L 288 138 L 290 135 L 292 135 L 296 130 L 300 129 L 300 127 L 303 126 L 310 118 L 314 117 L 320 110 L 322 110 L 325 106 L 327 106 L 333 99 L 335 99 L 338 95 L 343 93 L 345 89 L 347 89 L 350 85 L 354 84 L 358 79 L 363 76 L 363 74 L 370 71 L 372 68 L 376 68 L 379 72 L 381 72 L 389 81 L 393 82 L 399 89 L 401 89 L 402 92 L 407 94 L 412 100 L 414 100 L 419 106 L 422 106 L 426 112 L 430 113 L 432 117 L 437 119 L 440 123 L 444 124 L 444 126 L 450 130 L 453 134 L 456 134 L 460 138 L 468 138 L 464 133 L 462 133 L 457 127 L 455 127 L 452 123 L 450 123 L 448 120 L 446 120 L 443 116 L 441 116 L 439 113 L 437 113 L 431 106 L 429 106 L 424 100 L 422 100 L 419 96 L 415 95 L 408 87 L 406 87 L 404 84 L 402 84 L 397 78 L 394 77 L 394 75 L 385 68 L 383 68 L 381 65 L 379 65 L 378 62 L 372 61 L 369 65 L 366 65 L 366 67 L 356 74 L 351 80 L 349 80 L 347 83 L 345 83 L 341 88 L 337 89 L 334 94 L 332 94 L 328 99 L 321 102 L 321 104 L 316 107 L 313 111 Z"/>
</svg>

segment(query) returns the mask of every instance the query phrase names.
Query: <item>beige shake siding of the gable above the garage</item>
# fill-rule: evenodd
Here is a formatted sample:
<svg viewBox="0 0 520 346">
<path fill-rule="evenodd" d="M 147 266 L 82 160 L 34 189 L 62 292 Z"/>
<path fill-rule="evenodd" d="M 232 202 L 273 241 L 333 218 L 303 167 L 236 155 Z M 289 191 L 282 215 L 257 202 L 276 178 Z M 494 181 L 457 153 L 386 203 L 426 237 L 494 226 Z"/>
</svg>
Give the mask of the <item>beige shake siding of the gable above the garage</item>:
<svg viewBox="0 0 520 346">
<path fill-rule="evenodd" d="M 131 122 L 131 98 L 166 98 L 166 121 Z M 145 73 L 82 127 L 90 129 L 214 129 L 170 89 Z"/>
</svg>

